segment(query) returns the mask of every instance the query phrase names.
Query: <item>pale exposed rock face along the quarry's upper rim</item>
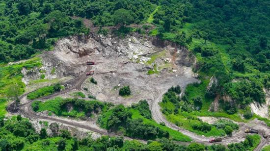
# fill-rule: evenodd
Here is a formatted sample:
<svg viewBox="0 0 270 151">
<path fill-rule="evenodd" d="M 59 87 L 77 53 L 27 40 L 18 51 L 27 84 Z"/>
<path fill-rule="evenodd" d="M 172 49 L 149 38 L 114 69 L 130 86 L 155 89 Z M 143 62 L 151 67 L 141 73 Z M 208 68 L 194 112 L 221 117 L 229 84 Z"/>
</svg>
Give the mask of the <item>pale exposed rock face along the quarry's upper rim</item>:
<svg viewBox="0 0 270 151">
<path fill-rule="evenodd" d="M 140 37 L 139 35 L 129 35 L 121 39 L 112 35 L 104 36 L 92 33 L 87 36 L 70 36 L 60 39 L 55 44 L 55 54 L 59 56 L 60 60 L 70 64 L 81 64 L 94 54 L 101 54 L 106 58 L 127 57 L 143 63 L 150 60 L 147 56 L 171 47 L 168 49 L 171 53 L 177 48 L 176 55 L 181 56 L 177 63 L 185 66 L 192 65 L 194 57 L 187 49 L 173 46 L 174 44 L 169 42 L 158 42 L 158 38 Z"/>
</svg>

